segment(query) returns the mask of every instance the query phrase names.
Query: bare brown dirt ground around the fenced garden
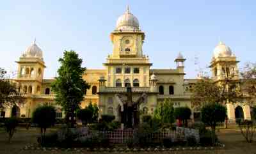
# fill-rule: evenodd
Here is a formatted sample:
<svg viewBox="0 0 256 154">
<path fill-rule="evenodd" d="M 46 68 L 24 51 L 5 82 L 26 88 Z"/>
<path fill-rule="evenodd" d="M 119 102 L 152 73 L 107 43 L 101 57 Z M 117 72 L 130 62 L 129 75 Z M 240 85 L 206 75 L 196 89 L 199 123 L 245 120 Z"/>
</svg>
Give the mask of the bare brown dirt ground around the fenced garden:
<svg viewBox="0 0 256 154">
<path fill-rule="evenodd" d="M 36 144 L 36 136 L 39 134 L 39 130 L 36 128 L 30 128 L 29 130 L 19 128 L 12 139 L 12 144 L 7 142 L 7 134 L 3 128 L 0 128 L 0 154 L 18 154 L 18 153 L 33 153 L 33 154 L 50 154 L 50 153 L 92 153 L 90 151 L 43 151 L 43 150 L 23 150 L 26 144 Z M 193 150 L 193 151 L 164 151 L 158 153 L 232 153 L 232 154 L 256 154 L 256 141 L 248 144 L 244 141 L 243 136 L 238 129 L 220 130 L 217 132 L 221 142 L 226 146 L 223 149 L 217 150 Z M 256 140 L 256 138 L 255 138 Z M 104 153 L 104 152 L 95 152 Z M 120 153 L 120 152 L 114 152 Z M 130 152 L 132 153 L 132 152 Z M 155 152 L 137 152 L 137 153 L 155 153 Z"/>
</svg>

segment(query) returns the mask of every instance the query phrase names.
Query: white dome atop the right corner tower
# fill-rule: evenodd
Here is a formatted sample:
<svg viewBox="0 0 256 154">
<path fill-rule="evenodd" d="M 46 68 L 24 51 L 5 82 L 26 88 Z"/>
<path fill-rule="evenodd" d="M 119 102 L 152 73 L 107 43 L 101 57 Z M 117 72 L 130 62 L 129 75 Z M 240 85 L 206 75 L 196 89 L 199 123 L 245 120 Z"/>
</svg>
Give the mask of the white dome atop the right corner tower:
<svg viewBox="0 0 256 154">
<path fill-rule="evenodd" d="M 232 50 L 225 43 L 220 42 L 214 49 L 214 58 L 218 57 L 230 57 L 232 56 Z"/>
</svg>

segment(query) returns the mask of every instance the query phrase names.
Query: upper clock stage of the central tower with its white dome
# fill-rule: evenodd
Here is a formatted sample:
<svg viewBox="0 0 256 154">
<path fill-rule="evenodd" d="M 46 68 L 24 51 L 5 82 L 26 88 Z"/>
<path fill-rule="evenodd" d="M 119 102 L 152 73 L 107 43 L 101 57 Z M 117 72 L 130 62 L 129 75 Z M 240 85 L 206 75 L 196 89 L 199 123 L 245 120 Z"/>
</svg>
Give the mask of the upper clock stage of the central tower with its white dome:
<svg viewBox="0 0 256 154">
<path fill-rule="evenodd" d="M 141 58 L 145 34 L 140 31 L 138 19 L 127 8 L 116 22 L 116 29 L 111 33 L 113 58 Z"/>
</svg>

